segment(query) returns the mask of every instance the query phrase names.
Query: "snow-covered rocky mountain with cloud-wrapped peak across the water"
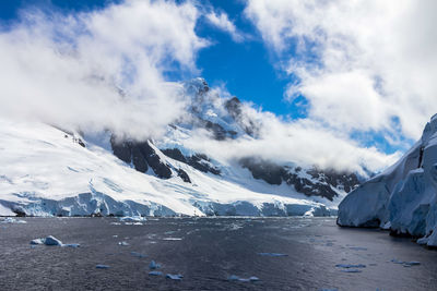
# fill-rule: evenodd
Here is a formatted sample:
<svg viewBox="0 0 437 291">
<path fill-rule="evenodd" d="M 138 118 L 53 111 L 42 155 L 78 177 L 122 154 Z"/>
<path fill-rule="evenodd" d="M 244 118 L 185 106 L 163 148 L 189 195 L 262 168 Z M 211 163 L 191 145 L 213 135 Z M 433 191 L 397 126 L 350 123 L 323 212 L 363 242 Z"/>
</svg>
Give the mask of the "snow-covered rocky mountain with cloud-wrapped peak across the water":
<svg viewBox="0 0 437 291">
<path fill-rule="evenodd" d="M 291 160 L 241 153 L 223 165 L 212 153 L 197 153 L 185 141 L 199 130 L 226 146 L 259 138 L 262 124 L 203 78 L 181 88 L 188 113 L 160 138 L 1 120 L 0 163 L 8 167 L 0 173 L 0 215 L 327 216 L 359 184 L 355 173 Z"/>
</svg>

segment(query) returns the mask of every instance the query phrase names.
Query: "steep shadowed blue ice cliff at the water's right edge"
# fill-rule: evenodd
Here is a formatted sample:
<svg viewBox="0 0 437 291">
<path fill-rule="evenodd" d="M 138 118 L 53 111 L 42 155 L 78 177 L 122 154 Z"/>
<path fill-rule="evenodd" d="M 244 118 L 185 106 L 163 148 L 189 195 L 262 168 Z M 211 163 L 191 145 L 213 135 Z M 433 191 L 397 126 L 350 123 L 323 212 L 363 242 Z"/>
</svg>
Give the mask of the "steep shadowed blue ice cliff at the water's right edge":
<svg viewBox="0 0 437 291">
<path fill-rule="evenodd" d="M 395 165 L 341 202 L 338 223 L 390 228 L 437 246 L 437 114 Z"/>
</svg>

